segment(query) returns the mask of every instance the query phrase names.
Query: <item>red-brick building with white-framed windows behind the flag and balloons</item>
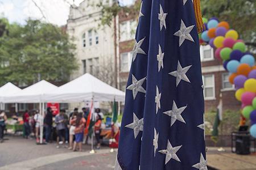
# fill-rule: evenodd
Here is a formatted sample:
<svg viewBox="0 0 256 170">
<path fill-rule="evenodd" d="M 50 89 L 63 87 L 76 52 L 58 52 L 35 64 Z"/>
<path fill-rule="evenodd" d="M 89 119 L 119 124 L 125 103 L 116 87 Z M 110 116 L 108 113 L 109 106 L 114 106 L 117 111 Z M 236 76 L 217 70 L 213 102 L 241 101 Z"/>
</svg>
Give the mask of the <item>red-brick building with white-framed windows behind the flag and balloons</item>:
<svg viewBox="0 0 256 170">
<path fill-rule="evenodd" d="M 138 12 L 119 14 L 119 87 L 125 91 L 133 58 L 135 29 L 137 27 Z M 223 99 L 223 109 L 237 111 L 241 103 L 234 97 L 235 88 L 229 83 L 229 73 L 222 66 L 222 62 L 214 58 L 213 49 L 209 45 L 200 46 L 201 65 L 204 82 L 205 112 L 216 111 L 220 100 Z"/>
</svg>

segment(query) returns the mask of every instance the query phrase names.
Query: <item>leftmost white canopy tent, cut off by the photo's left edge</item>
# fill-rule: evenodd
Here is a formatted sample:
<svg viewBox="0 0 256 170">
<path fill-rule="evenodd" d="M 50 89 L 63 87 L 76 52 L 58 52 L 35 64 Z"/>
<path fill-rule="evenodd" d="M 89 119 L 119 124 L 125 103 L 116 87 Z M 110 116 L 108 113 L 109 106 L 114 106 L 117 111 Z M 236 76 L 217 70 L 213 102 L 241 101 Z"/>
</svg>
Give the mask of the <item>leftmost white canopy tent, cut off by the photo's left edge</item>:
<svg viewBox="0 0 256 170">
<path fill-rule="evenodd" d="M 19 91 L 21 91 L 21 89 L 10 82 L 0 87 L 0 110 L 5 109 L 3 104 L 5 103 L 4 98 L 13 95 Z"/>
</svg>

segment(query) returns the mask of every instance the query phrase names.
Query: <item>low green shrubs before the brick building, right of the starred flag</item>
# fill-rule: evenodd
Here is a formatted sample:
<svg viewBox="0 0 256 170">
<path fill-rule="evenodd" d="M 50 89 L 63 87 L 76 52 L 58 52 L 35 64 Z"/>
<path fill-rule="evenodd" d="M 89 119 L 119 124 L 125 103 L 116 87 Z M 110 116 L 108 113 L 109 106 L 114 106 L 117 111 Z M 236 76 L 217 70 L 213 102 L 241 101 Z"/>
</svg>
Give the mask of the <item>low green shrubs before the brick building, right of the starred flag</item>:
<svg viewBox="0 0 256 170">
<path fill-rule="evenodd" d="M 222 121 L 218 127 L 219 135 L 230 135 L 238 130 L 241 113 L 239 111 L 226 110 L 222 115 Z M 205 134 L 211 135 L 216 112 L 205 113 Z"/>
</svg>

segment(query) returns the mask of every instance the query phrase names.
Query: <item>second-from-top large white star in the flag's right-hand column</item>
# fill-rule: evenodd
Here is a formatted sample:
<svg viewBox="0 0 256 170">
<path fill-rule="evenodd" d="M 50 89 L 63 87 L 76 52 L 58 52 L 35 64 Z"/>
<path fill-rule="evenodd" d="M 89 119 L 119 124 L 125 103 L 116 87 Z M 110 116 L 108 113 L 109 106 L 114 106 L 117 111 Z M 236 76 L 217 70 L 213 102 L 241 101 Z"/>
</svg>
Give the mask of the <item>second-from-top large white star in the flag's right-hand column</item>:
<svg viewBox="0 0 256 170">
<path fill-rule="evenodd" d="M 186 75 L 186 73 L 188 72 L 190 67 L 192 67 L 192 65 L 184 67 L 184 68 L 181 67 L 180 61 L 178 60 L 177 70 L 176 71 L 172 71 L 171 73 L 169 73 L 172 76 L 176 76 L 176 87 L 179 85 L 180 80 L 184 80 L 185 82 L 190 83 L 190 80 L 188 79 L 188 77 Z"/>
</svg>

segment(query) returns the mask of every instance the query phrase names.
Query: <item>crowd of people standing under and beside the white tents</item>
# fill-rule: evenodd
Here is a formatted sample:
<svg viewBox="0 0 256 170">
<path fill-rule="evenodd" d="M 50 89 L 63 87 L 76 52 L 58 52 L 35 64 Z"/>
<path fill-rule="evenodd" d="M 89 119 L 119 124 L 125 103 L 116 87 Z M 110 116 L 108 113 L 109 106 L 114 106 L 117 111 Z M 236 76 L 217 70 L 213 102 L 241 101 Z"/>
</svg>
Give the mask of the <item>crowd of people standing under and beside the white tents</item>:
<svg viewBox="0 0 256 170">
<path fill-rule="evenodd" d="M 82 151 L 82 142 L 88 142 L 88 133 L 85 134 L 86 121 L 88 121 L 89 108 L 82 108 L 82 112 L 75 108 L 72 113 L 67 114 L 61 109 L 57 115 L 53 115 L 52 109 L 47 108 L 43 117 L 38 111 L 25 111 L 23 120 L 23 137 L 36 138 L 36 143 L 40 142 L 40 128 L 44 129 L 43 142 L 49 143 L 56 139 L 56 147 L 67 147 L 69 150 Z M 13 116 L 17 118 L 18 115 Z M 101 123 L 104 114 L 100 109 L 96 109 L 92 113 L 92 121 L 90 128 L 95 134 L 97 148 L 101 146 L 100 133 Z M 3 134 L 6 127 L 7 116 L 4 111 L 0 114 L 0 142 L 3 141 Z M 87 125 L 88 126 L 88 125 Z M 33 134 L 33 135 L 32 135 Z"/>
</svg>

